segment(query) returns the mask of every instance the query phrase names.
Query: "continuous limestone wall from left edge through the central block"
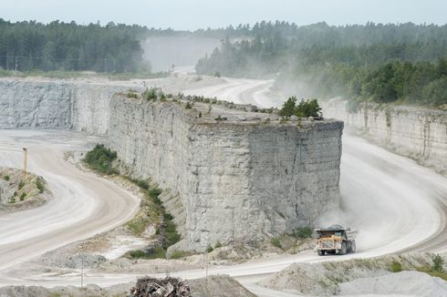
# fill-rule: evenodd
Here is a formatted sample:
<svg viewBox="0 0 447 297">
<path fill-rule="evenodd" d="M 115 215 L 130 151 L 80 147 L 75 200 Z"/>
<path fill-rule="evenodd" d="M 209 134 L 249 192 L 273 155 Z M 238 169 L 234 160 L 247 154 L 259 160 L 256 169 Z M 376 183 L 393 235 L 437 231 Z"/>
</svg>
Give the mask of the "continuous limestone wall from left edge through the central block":
<svg viewBox="0 0 447 297">
<path fill-rule="evenodd" d="M 172 213 L 184 209 L 177 249 L 289 232 L 338 208 L 340 121 L 280 124 L 240 111 L 218 121 L 235 111 L 206 115 L 205 104 L 186 109 L 70 82 L 2 80 L 0 89 L 0 128 L 102 135 L 136 176 L 177 196 L 167 204 Z"/>
</svg>

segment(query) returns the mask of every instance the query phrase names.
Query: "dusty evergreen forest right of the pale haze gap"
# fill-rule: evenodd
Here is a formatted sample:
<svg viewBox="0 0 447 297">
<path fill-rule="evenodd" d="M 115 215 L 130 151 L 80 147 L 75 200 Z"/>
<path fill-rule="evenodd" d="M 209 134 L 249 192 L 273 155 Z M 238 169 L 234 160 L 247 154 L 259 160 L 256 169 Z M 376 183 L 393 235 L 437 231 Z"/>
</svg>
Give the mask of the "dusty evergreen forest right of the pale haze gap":
<svg viewBox="0 0 447 297">
<path fill-rule="evenodd" d="M 225 38 L 196 70 L 275 77 L 277 87 L 303 97 L 447 104 L 447 26 L 263 22 L 248 30 L 251 38 Z"/>
</svg>

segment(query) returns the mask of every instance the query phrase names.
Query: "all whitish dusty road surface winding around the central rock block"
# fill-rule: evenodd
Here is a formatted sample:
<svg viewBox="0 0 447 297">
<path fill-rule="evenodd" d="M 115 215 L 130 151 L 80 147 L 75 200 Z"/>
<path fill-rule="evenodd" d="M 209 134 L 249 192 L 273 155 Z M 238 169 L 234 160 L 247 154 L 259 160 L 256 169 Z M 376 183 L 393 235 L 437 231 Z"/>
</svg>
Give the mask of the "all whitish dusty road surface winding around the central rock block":
<svg viewBox="0 0 447 297">
<path fill-rule="evenodd" d="M 215 85 L 185 87 L 183 92 L 261 107 L 278 106 L 281 102 L 268 97 L 271 84 L 271 81 L 228 78 Z M 0 215 L 0 286 L 78 285 L 80 271 L 50 276 L 17 268 L 47 251 L 112 230 L 135 214 L 139 200 L 134 194 L 67 162 L 66 151 L 85 151 L 98 141 L 68 132 L 0 131 L 0 167 L 20 168 L 21 148 L 29 148 L 29 170 L 43 176 L 57 198 L 36 210 Z M 174 272 L 173 267 L 171 276 L 193 279 L 206 273 L 229 274 L 256 294 L 289 296 L 286 292 L 270 292 L 255 283 L 294 262 L 370 258 L 400 251 L 447 251 L 447 179 L 431 169 L 345 132 L 340 189 L 343 211 L 327 214 L 321 224 L 336 221 L 358 228 L 357 253 L 318 257 L 306 251 L 233 266 L 212 266 L 207 270 Z M 84 282 L 109 286 L 135 281 L 137 276 L 86 271 Z"/>
</svg>

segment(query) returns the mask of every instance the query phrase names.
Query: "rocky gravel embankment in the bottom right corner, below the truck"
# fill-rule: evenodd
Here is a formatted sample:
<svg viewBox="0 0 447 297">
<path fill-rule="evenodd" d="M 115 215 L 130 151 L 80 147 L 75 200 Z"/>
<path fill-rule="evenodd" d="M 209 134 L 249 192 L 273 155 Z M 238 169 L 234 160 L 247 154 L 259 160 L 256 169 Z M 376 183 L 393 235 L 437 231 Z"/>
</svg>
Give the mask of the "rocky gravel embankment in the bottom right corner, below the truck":
<svg viewBox="0 0 447 297">
<path fill-rule="evenodd" d="M 447 294 L 444 272 L 432 272 L 426 253 L 371 259 L 295 263 L 260 282 L 276 291 L 301 296 L 421 296 Z M 441 267 L 440 270 L 444 270 Z M 428 272 L 427 272 L 428 271 Z M 433 275 L 433 276 L 431 276 Z"/>
</svg>

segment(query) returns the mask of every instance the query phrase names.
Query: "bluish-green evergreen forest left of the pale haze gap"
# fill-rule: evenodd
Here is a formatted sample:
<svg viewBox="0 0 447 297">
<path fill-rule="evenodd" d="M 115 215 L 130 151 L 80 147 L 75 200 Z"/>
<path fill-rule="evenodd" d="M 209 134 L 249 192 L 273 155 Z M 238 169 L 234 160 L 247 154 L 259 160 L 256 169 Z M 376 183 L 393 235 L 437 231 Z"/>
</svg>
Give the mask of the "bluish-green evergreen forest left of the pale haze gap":
<svg viewBox="0 0 447 297">
<path fill-rule="evenodd" d="M 11 23 L 0 19 L 0 67 L 9 70 L 92 70 L 148 72 L 143 63 L 141 26 L 59 21 Z"/>
</svg>

